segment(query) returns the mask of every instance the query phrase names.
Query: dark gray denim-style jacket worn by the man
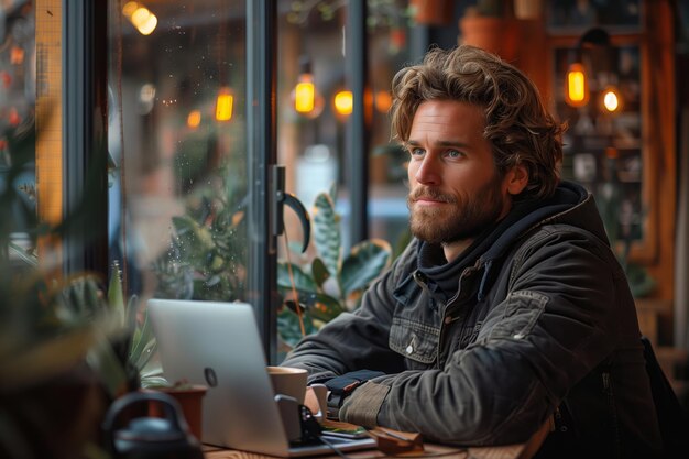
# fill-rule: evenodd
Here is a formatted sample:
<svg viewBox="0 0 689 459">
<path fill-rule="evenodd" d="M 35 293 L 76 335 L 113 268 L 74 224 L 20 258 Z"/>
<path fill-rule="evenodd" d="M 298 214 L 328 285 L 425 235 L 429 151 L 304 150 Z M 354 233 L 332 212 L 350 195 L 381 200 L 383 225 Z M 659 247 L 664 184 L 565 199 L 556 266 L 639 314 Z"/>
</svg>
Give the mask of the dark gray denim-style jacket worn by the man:
<svg viewBox="0 0 689 459">
<path fill-rule="evenodd" d="M 553 416 L 542 451 L 653 456 L 660 436 L 634 300 L 593 198 L 564 183 L 535 209 L 450 270 L 451 295 L 430 278 L 449 267 L 425 267 L 433 248 L 414 240 L 360 308 L 283 364 L 308 369 L 309 381 L 387 373 L 344 400 L 340 419 L 354 424 L 502 445 Z"/>
</svg>

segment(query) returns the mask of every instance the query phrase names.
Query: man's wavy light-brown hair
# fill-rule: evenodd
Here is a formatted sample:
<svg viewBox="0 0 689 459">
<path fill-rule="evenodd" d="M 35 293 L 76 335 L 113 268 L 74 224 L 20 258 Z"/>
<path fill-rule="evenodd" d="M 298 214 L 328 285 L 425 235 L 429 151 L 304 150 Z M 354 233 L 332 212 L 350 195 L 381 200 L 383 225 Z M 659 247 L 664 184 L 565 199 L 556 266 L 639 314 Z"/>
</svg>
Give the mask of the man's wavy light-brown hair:
<svg viewBox="0 0 689 459">
<path fill-rule="evenodd" d="M 414 114 L 426 100 L 480 106 L 485 114 L 483 136 L 492 144 L 497 172 L 502 175 L 522 164 L 529 177 L 524 197 L 555 193 L 566 124 L 548 113 L 534 83 L 499 56 L 469 45 L 434 48 L 419 65 L 395 75 L 392 91 L 393 138 L 409 139 Z"/>
</svg>

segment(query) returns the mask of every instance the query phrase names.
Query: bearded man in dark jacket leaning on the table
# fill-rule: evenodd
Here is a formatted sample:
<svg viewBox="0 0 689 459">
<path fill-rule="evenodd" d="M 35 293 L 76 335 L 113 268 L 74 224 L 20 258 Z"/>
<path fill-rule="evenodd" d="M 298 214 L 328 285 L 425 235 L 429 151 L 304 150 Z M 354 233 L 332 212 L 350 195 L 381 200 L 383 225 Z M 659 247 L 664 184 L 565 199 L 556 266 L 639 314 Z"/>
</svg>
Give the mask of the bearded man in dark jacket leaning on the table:
<svg viewBox="0 0 689 459">
<path fill-rule="evenodd" d="M 592 196 L 559 179 L 562 128 L 536 87 L 464 45 L 402 69 L 393 98 L 415 239 L 283 364 L 353 424 L 502 445 L 553 418 L 539 455 L 656 455 L 634 302 Z"/>
</svg>

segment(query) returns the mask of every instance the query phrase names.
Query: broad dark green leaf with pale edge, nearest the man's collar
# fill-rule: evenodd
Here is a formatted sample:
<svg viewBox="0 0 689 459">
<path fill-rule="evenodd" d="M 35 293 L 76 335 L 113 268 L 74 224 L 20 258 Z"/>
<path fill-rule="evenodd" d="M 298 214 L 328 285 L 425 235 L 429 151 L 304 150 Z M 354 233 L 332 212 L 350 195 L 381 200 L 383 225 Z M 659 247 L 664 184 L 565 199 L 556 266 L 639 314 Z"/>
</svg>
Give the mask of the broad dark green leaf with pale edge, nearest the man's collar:
<svg viewBox="0 0 689 459">
<path fill-rule="evenodd" d="M 369 239 L 354 245 L 340 273 L 346 296 L 367 287 L 390 265 L 391 256 L 390 243 L 382 239 Z"/>
</svg>

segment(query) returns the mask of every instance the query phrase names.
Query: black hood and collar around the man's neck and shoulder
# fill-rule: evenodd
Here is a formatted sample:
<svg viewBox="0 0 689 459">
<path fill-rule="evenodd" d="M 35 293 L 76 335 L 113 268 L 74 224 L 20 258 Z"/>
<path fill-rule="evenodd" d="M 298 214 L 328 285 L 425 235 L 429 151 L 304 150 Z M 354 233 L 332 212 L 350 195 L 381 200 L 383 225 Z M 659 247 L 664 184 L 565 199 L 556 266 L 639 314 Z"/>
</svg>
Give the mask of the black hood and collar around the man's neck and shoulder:
<svg viewBox="0 0 689 459">
<path fill-rule="evenodd" d="M 494 260 L 510 250 L 516 239 L 527 231 L 549 223 L 566 223 L 583 228 L 608 241 L 603 222 L 593 196 L 581 185 L 561 182 L 553 197 L 539 200 L 515 201 L 510 212 L 486 228 L 457 259 L 447 262 L 439 244 L 418 244 L 418 270 L 428 280 L 428 288 L 439 299 L 448 300 L 457 291 L 457 280 L 469 266 L 483 269 L 479 288 L 482 297 L 484 283 Z"/>
</svg>

